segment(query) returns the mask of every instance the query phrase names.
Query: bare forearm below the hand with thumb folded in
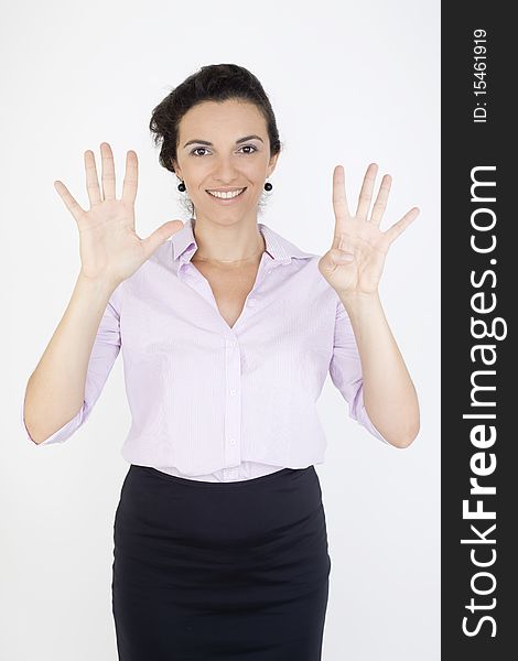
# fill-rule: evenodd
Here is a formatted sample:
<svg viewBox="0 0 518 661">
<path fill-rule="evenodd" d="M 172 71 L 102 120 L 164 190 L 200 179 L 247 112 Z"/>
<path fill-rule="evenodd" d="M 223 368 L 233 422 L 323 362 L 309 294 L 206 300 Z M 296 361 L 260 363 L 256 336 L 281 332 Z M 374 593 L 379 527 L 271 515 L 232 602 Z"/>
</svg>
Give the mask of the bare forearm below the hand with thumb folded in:
<svg viewBox="0 0 518 661">
<path fill-rule="evenodd" d="M 339 297 L 358 346 L 367 414 L 389 443 L 407 447 L 419 432 L 419 401 L 379 294 Z"/>
</svg>

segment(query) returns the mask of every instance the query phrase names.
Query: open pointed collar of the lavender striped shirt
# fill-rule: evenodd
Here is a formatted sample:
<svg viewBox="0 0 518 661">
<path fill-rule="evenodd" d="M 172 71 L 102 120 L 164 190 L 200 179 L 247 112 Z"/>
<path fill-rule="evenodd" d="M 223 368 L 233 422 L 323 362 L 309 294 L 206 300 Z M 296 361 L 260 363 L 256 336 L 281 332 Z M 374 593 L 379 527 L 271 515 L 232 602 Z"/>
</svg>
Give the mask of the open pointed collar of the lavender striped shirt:
<svg viewBox="0 0 518 661">
<path fill-rule="evenodd" d="M 300 250 L 294 243 L 281 237 L 263 223 L 258 223 L 258 228 L 265 237 L 266 251 L 273 262 L 276 262 L 274 266 L 277 266 L 277 263 L 288 264 L 293 258 L 307 259 L 313 257 L 311 252 Z M 197 243 L 193 232 L 193 218 L 186 220 L 183 228 L 171 237 L 171 245 L 172 259 L 175 262 L 177 270 L 183 263 L 190 261 L 197 250 Z"/>
</svg>

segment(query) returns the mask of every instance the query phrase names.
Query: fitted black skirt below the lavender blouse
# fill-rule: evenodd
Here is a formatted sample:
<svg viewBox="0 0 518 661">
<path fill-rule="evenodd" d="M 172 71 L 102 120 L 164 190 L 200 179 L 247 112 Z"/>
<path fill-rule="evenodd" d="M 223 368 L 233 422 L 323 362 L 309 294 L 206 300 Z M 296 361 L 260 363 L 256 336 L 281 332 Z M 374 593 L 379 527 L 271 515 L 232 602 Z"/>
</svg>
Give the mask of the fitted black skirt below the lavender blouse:
<svg viewBox="0 0 518 661">
<path fill-rule="evenodd" d="M 207 483 L 130 465 L 114 525 L 120 661 L 320 661 L 331 559 L 314 466 Z"/>
</svg>

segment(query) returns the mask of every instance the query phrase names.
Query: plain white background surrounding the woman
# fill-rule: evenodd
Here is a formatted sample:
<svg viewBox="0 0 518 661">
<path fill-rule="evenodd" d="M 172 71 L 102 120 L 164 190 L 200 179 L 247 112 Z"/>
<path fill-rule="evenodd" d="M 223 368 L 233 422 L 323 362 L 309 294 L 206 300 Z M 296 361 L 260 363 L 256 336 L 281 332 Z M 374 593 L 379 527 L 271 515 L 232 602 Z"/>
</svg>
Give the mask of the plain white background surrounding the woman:
<svg viewBox="0 0 518 661">
<path fill-rule="evenodd" d="M 139 155 L 137 231 L 186 219 L 176 177 L 160 167 L 152 108 L 205 64 L 261 80 L 284 151 L 260 220 L 323 254 L 333 236 L 332 173 L 350 206 L 365 169 L 392 192 L 381 229 L 411 206 L 380 285 L 416 383 L 421 431 L 386 446 L 347 415 L 328 377 L 317 466 L 332 574 L 324 661 L 440 658 L 440 3 L 3 2 L 0 55 L 2 460 L 0 657 L 116 660 L 112 525 L 128 465 L 130 413 L 118 359 L 89 421 L 37 447 L 19 409 L 26 380 L 69 301 L 77 227 L 53 187 L 87 208 L 83 152 L 108 141 L 121 193 Z M 452 219 L 450 219 L 452 220 Z M 151 661 L 151 660 L 150 660 Z"/>
</svg>

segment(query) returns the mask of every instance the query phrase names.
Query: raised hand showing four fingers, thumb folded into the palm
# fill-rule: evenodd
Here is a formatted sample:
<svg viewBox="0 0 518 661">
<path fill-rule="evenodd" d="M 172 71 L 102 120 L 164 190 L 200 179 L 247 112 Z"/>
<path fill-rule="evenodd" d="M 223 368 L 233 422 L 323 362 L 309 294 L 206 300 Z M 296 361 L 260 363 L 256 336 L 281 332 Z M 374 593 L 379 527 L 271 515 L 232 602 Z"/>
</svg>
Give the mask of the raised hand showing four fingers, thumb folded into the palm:
<svg viewBox="0 0 518 661">
<path fill-rule="evenodd" d="M 344 167 L 336 165 L 333 172 L 334 238 L 332 248 L 319 261 L 319 270 L 339 295 L 377 293 L 390 245 L 419 215 L 419 208 L 412 207 L 392 227 L 379 229 L 391 184 L 386 174 L 367 220 L 377 171 L 376 163 L 367 167 L 355 216 L 347 207 Z M 341 261 L 342 256 L 350 256 L 352 261 Z"/>
</svg>

